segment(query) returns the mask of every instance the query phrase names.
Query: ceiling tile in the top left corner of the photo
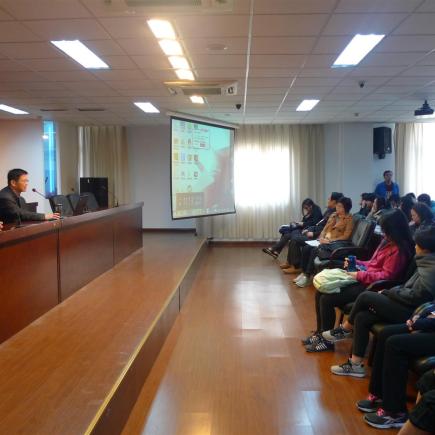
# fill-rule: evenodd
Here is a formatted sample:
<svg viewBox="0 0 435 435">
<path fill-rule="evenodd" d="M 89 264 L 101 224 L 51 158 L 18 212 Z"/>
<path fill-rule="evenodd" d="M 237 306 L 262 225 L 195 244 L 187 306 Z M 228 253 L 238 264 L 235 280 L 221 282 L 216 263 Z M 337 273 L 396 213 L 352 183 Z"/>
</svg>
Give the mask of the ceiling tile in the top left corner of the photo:
<svg viewBox="0 0 435 435">
<path fill-rule="evenodd" d="M 1 7 L 19 20 L 91 16 L 77 0 L 2 0 Z"/>
</svg>

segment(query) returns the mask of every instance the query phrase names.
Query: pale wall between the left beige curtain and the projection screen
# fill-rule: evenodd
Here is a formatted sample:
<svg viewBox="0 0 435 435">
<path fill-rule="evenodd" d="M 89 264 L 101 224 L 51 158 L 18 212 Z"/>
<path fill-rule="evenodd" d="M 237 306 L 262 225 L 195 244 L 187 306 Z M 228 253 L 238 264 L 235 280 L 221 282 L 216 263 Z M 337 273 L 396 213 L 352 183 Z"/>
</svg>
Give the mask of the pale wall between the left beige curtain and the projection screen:
<svg viewBox="0 0 435 435">
<path fill-rule="evenodd" d="M 143 228 L 195 228 L 171 219 L 169 125 L 127 127 L 132 202 L 143 201 Z"/>
</svg>

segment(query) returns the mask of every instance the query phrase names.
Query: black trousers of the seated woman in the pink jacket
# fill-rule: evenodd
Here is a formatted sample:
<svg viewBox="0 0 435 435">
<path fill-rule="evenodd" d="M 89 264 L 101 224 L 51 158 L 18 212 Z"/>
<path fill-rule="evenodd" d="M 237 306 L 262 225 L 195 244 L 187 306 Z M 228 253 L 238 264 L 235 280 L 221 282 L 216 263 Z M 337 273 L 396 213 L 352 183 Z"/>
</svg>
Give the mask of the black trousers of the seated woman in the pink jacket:
<svg viewBox="0 0 435 435">
<path fill-rule="evenodd" d="M 358 282 L 343 287 L 340 293 L 325 294 L 317 291 L 315 298 L 317 331 L 332 329 L 335 325 L 335 307 L 343 308 L 350 302 L 354 302 L 365 289 L 365 286 Z"/>
</svg>

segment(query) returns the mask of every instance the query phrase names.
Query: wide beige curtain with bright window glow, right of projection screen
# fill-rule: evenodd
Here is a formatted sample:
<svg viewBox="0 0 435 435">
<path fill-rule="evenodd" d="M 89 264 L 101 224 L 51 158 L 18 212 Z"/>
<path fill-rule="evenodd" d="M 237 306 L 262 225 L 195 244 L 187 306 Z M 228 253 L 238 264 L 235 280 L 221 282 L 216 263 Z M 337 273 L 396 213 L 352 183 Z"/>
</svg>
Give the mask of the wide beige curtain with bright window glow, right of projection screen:
<svg viewBox="0 0 435 435">
<path fill-rule="evenodd" d="M 245 125 L 234 146 L 234 215 L 209 218 L 221 240 L 271 240 L 301 217 L 301 202 L 324 204 L 321 125 Z M 207 226 L 207 225 L 205 225 Z"/>
</svg>

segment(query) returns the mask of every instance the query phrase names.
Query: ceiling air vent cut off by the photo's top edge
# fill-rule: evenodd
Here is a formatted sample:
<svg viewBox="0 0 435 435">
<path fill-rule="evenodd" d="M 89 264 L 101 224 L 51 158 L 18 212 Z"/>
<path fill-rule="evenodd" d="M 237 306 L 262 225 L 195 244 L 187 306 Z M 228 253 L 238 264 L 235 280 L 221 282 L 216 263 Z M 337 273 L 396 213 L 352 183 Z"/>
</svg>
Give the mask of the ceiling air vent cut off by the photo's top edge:
<svg viewBox="0 0 435 435">
<path fill-rule="evenodd" d="M 231 12 L 234 0 L 104 0 L 112 12 L 130 10 L 163 13 Z"/>
</svg>

